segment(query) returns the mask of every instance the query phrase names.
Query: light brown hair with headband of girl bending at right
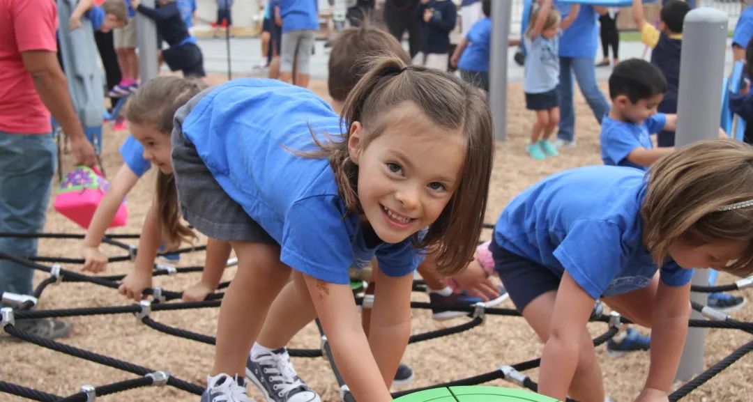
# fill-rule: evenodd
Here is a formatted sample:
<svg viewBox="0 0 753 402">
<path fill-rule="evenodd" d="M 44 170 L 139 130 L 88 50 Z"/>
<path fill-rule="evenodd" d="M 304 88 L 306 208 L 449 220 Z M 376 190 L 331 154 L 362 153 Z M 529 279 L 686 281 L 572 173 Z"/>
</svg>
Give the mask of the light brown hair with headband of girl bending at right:
<svg viewBox="0 0 753 402">
<path fill-rule="evenodd" d="M 657 265 L 678 240 L 696 245 L 736 240 L 748 247 L 724 271 L 737 276 L 753 271 L 753 206 L 722 208 L 753 199 L 750 145 L 730 139 L 696 142 L 658 160 L 647 177 L 643 239 Z"/>
</svg>

